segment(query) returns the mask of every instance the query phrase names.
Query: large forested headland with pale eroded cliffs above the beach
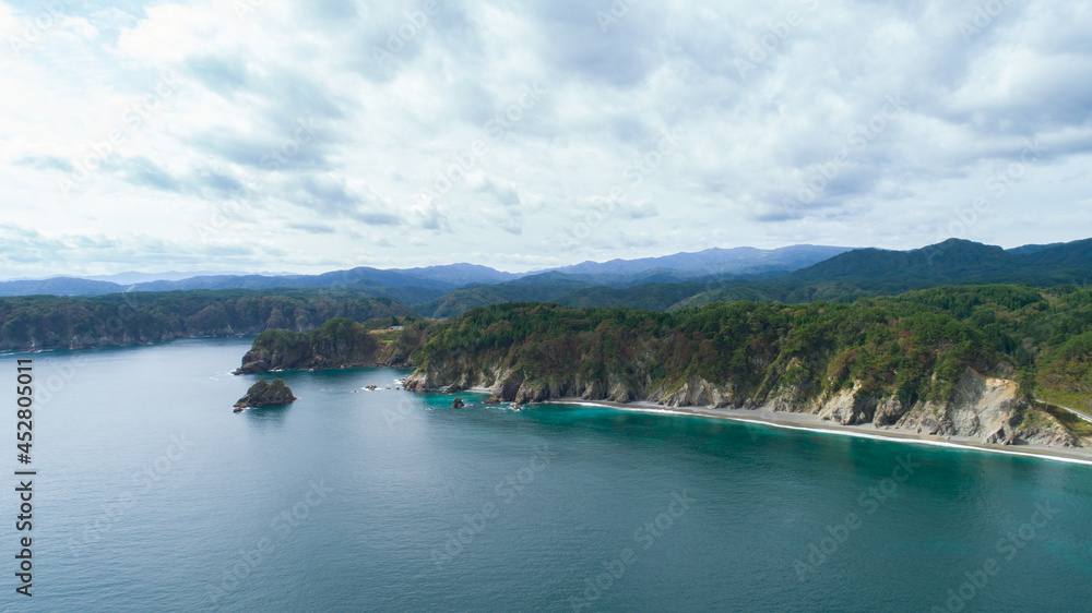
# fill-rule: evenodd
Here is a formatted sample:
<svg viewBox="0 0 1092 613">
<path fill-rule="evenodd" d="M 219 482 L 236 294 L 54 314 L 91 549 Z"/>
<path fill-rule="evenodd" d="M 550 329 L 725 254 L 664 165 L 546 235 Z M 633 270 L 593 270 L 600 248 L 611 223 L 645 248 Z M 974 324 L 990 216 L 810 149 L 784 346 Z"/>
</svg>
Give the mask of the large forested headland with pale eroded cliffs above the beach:
<svg viewBox="0 0 1092 613">
<path fill-rule="evenodd" d="M 1029 400 L 1092 409 L 1092 291 L 1076 287 L 946 287 L 853 304 L 735 302 L 670 313 L 502 304 L 431 324 L 425 339 L 415 389 L 484 386 L 515 401 L 772 404 L 842 423 L 970 429 L 1008 442 L 1080 444 L 1092 434 Z M 1005 381 L 1019 383 L 1009 389 Z M 996 419 L 968 408 L 975 402 Z M 960 407 L 974 414 L 960 417 Z M 996 431 L 982 432 L 987 423 Z"/>
</svg>

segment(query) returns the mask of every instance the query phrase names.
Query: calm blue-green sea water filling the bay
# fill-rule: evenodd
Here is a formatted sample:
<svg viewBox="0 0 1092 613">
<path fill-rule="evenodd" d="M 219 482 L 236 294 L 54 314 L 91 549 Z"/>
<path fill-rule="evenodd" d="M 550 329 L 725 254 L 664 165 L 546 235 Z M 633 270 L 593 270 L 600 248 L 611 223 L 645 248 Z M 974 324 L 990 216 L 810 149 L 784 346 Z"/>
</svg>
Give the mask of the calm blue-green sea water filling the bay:
<svg viewBox="0 0 1092 613">
<path fill-rule="evenodd" d="M 10 411 L 0 603 L 1092 610 L 1092 467 L 360 389 L 394 370 L 283 373 L 298 401 L 236 414 L 258 378 L 228 374 L 248 347 L 33 356 L 35 596 L 14 593 Z M 0 357 L 9 407 L 15 359 Z"/>
</svg>

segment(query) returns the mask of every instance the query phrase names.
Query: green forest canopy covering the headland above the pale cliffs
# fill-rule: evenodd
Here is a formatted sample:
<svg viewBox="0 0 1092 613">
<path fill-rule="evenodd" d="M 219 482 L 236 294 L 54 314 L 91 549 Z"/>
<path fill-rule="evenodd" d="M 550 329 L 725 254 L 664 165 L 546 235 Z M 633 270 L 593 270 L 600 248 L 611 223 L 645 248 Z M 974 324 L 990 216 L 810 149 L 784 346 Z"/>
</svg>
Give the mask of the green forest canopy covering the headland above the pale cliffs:
<svg viewBox="0 0 1092 613">
<path fill-rule="evenodd" d="M 530 382 L 692 376 L 765 397 L 792 386 L 947 401 L 968 369 L 1029 398 L 1092 409 L 1092 290 L 943 287 L 852 303 L 737 301 L 667 313 L 509 303 L 420 323 L 422 366 L 503 368 Z"/>
</svg>

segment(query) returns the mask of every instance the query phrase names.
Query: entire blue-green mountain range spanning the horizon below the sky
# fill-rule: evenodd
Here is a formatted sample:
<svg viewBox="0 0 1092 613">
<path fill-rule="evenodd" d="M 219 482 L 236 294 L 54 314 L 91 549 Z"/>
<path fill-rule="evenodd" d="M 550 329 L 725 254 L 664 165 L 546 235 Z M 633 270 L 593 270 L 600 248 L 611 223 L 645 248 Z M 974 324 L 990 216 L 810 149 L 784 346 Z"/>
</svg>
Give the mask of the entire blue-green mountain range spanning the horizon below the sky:
<svg viewBox="0 0 1092 613">
<path fill-rule="evenodd" d="M 525 274 L 472 264 L 357 267 L 321 275 L 205 275 L 122 286 L 57 277 L 0 284 L 0 296 L 139 295 L 186 290 L 319 291 L 381 298 L 431 318 L 505 302 L 674 311 L 750 300 L 851 302 L 945 285 L 1088 285 L 1092 239 L 1005 250 L 951 239 L 910 251 L 797 245 L 707 250 L 664 257 L 585 262 Z"/>
</svg>

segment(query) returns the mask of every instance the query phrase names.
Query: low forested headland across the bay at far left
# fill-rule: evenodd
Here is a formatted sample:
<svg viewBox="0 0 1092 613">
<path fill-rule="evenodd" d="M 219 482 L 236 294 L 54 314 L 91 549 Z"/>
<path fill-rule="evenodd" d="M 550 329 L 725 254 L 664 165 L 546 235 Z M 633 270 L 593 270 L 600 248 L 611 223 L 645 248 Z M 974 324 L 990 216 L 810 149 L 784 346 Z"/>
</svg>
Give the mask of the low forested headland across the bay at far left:
<svg viewBox="0 0 1092 613">
<path fill-rule="evenodd" d="M 195 290 L 86 298 L 0 298 L 0 351 L 311 330 L 333 317 L 413 316 L 387 298 L 329 290 Z"/>
</svg>

